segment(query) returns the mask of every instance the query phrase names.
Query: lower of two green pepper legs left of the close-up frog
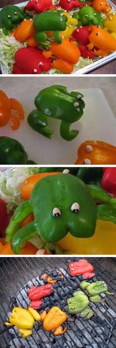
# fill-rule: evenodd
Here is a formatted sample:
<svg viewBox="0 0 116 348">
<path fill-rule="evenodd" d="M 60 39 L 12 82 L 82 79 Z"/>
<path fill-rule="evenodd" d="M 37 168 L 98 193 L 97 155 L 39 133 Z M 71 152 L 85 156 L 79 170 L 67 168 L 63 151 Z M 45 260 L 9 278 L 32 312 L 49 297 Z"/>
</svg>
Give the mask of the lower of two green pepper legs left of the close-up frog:
<svg viewBox="0 0 116 348">
<path fill-rule="evenodd" d="M 38 232 L 36 230 L 36 226 L 34 222 L 30 222 L 27 225 L 23 226 L 19 231 L 17 231 L 12 238 L 11 241 L 11 248 L 15 254 L 20 254 L 21 252 L 21 245 L 29 240 L 30 238 L 34 237 Z"/>
</svg>

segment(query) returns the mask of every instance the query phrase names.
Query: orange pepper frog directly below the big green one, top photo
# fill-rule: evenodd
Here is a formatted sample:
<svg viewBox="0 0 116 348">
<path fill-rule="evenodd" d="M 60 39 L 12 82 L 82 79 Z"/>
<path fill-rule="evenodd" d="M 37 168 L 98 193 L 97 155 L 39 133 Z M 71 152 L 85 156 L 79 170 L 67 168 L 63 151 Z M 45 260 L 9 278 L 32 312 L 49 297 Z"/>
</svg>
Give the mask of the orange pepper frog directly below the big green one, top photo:
<svg viewBox="0 0 116 348">
<path fill-rule="evenodd" d="M 51 43 L 49 51 L 43 51 L 42 55 L 45 58 L 50 58 L 52 55 L 59 59 L 67 61 L 71 64 L 76 64 L 81 56 L 78 46 L 74 42 L 70 42 L 66 37 L 62 39 L 62 43 L 58 44 L 56 41 Z"/>
</svg>

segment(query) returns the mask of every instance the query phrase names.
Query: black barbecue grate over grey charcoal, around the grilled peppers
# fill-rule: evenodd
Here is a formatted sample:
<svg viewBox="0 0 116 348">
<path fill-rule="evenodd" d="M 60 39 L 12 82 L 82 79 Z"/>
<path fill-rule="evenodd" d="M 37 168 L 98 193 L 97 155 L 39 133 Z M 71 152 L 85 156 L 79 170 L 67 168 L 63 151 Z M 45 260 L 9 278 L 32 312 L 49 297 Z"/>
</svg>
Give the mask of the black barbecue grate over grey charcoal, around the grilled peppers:
<svg viewBox="0 0 116 348">
<path fill-rule="evenodd" d="M 105 300 L 101 303 L 90 303 L 93 317 L 89 320 L 80 318 L 79 314 L 69 315 L 66 299 L 72 293 L 80 290 L 82 276 L 71 277 L 68 263 L 78 261 L 80 258 L 6 258 L 0 259 L 0 347 L 1 348 L 114 348 L 116 347 L 116 294 L 113 296 L 102 294 Z M 86 258 L 93 267 L 95 276 L 92 280 L 103 280 L 108 285 L 108 290 L 116 290 L 116 272 L 109 271 L 104 266 L 104 258 Z M 116 259 L 110 262 L 116 266 Z M 28 308 L 29 299 L 27 290 L 33 285 L 43 285 L 39 279 L 44 269 L 51 271 L 52 267 L 60 269 L 64 281 L 54 285 L 55 293 L 43 299 L 41 311 L 47 311 L 52 306 L 58 306 L 68 318 L 67 331 L 61 336 L 55 336 L 52 331 L 46 331 L 42 322 L 35 322 L 32 336 L 24 339 L 17 333 L 16 326 L 4 326 L 8 321 L 13 307 Z M 105 296 L 105 297 L 104 297 Z M 39 312 L 41 312 L 39 311 Z"/>
</svg>

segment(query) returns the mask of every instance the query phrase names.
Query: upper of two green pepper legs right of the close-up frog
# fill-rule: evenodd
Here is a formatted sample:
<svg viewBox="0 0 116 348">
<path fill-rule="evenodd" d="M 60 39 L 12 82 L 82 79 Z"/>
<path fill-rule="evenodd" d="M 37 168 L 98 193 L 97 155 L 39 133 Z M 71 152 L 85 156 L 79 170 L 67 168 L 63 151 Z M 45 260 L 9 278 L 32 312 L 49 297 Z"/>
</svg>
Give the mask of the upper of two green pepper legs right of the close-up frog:
<svg viewBox="0 0 116 348">
<path fill-rule="evenodd" d="M 112 198 L 107 191 L 96 185 L 87 185 L 87 187 L 95 201 L 110 204 L 116 209 L 116 198 Z"/>
</svg>

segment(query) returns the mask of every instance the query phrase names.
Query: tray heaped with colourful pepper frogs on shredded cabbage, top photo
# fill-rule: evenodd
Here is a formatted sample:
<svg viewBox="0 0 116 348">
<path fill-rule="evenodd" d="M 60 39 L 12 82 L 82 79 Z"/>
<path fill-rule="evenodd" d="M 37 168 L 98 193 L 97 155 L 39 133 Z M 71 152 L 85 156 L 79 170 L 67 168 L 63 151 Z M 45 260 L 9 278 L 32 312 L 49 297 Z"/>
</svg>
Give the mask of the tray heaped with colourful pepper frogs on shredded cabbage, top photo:
<svg viewBox="0 0 116 348">
<path fill-rule="evenodd" d="M 115 58 L 110 0 L 27 1 L 0 9 L 2 74 L 85 74 Z"/>
</svg>

